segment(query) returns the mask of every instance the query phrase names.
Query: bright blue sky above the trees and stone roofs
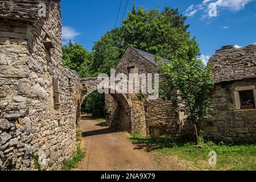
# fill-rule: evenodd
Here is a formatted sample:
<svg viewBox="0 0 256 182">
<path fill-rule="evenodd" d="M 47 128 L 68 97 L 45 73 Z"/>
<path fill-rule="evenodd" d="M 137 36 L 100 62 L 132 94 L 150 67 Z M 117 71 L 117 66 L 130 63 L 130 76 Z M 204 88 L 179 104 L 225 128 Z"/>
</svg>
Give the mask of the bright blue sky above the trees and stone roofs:
<svg viewBox="0 0 256 182">
<path fill-rule="evenodd" d="M 63 42 L 72 39 L 90 51 L 93 42 L 114 28 L 120 2 L 62 0 Z M 125 9 L 126 2 L 122 0 L 117 26 L 121 24 L 123 12 L 124 18 L 127 17 L 133 2 L 147 9 L 178 8 L 180 13 L 188 16 L 188 31 L 196 37 L 204 61 L 221 46 L 244 47 L 256 43 L 256 0 L 129 0 Z"/>
</svg>

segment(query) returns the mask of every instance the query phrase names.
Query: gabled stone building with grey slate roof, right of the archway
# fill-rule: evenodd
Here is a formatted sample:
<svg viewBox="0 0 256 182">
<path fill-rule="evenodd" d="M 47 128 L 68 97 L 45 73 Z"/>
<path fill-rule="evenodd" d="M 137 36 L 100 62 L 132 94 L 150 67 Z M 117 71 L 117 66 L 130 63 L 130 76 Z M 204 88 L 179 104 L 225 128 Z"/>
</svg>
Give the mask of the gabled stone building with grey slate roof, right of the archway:
<svg viewBox="0 0 256 182">
<path fill-rule="evenodd" d="M 115 73 L 124 73 L 125 75 L 129 75 L 129 73 L 138 73 L 138 75 L 152 73 L 154 75 L 158 73 L 155 55 L 128 47 L 115 67 Z M 163 79 L 163 76 L 160 76 L 159 80 Z M 154 80 L 152 82 L 154 83 Z M 126 126 L 119 126 L 119 129 L 150 135 L 151 127 L 158 126 L 160 135 L 169 135 L 173 138 L 191 138 L 193 136 L 191 123 L 185 121 L 183 113 L 174 107 L 171 101 L 163 100 L 160 96 L 156 100 L 150 100 L 148 94 L 143 94 L 142 97 L 140 94 L 127 94 L 127 98 L 130 103 L 131 123 Z M 109 94 L 106 95 L 105 102 L 110 111 L 107 121 L 113 125 L 113 122 L 118 121 L 119 112 L 122 112 L 123 109 L 117 107 L 117 103 Z M 117 125 L 115 123 L 115 126 Z"/>
</svg>

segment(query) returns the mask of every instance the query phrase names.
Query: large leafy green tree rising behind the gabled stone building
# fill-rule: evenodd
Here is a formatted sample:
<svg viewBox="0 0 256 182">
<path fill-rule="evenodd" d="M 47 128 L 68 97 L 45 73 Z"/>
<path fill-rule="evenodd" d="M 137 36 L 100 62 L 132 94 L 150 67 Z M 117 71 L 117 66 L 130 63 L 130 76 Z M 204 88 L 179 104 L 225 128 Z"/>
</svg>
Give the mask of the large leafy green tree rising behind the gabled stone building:
<svg viewBox="0 0 256 182">
<path fill-rule="evenodd" d="M 154 54 L 162 52 L 163 48 L 167 47 L 167 39 L 164 36 L 169 33 L 170 28 L 178 28 L 181 32 L 187 30 L 189 25 L 184 25 L 185 19 L 177 9 L 166 7 L 164 11 L 146 11 L 143 7 L 138 7 L 136 10 L 134 4 L 133 11 L 128 12 L 128 18 L 123 20 L 122 26 L 108 31 L 94 44 L 90 71 L 94 76 L 98 73 L 109 74 L 127 46 Z"/>
</svg>

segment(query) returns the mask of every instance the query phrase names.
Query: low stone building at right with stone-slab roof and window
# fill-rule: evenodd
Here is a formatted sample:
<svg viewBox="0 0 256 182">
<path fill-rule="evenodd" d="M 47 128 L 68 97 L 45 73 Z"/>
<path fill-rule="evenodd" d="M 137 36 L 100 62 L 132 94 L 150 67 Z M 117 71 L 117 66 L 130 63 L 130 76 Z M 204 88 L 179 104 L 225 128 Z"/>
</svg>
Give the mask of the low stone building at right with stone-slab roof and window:
<svg viewBox="0 0 256 182">
<path fill-rule="evenodd" d="M 205 137 L 228 142 L 256 140 L 256 44 L 224 46 L 210 57 L 214 90 L 212 117 L 202 122 Z"/>
</svg>

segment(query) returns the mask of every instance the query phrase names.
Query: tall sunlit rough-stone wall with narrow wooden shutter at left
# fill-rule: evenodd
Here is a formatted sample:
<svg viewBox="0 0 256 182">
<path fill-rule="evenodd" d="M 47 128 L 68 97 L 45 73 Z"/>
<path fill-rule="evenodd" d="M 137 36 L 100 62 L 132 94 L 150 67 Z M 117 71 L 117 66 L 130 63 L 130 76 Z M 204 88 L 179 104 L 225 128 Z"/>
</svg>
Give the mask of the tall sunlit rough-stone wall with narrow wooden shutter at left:
<svg viewBox="0 0 256 182">
<path fill-rule="evenodd" d="M 62 63 L 60 2 L 48 3 L 47 16 L 35 22 L 0 18 L 0 169 L 35 169 L 36 161 L 41 169 L 61 168 L 76 151 L 80 78 Z"/>
</svg>

